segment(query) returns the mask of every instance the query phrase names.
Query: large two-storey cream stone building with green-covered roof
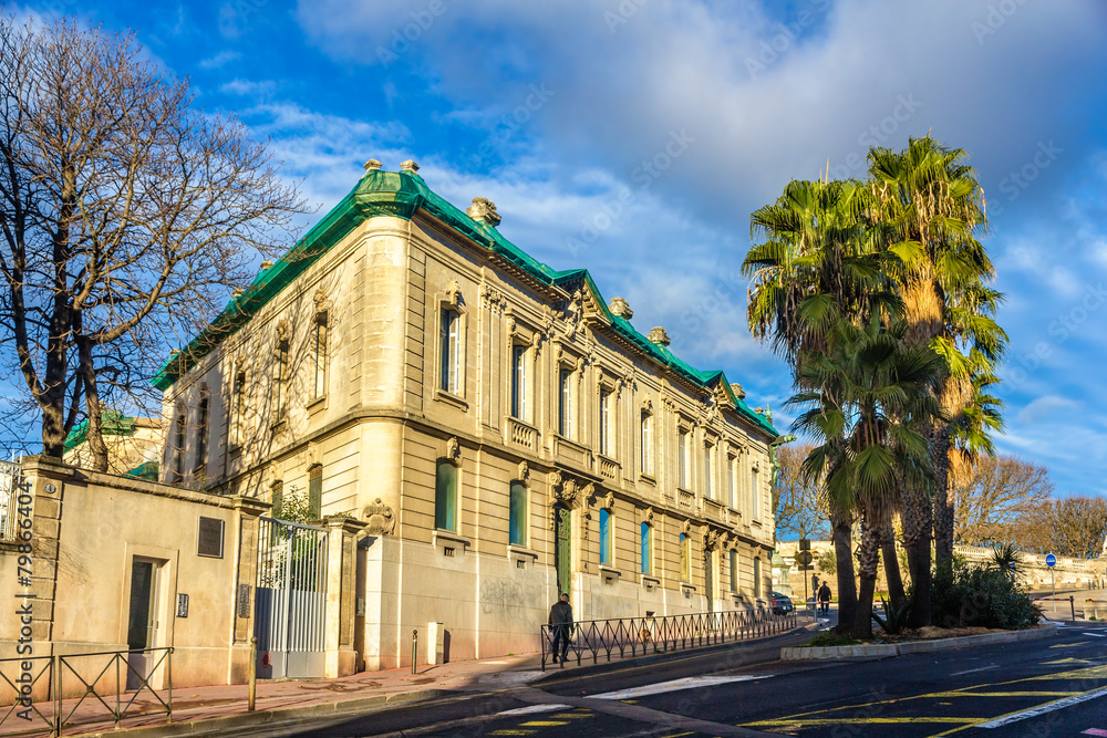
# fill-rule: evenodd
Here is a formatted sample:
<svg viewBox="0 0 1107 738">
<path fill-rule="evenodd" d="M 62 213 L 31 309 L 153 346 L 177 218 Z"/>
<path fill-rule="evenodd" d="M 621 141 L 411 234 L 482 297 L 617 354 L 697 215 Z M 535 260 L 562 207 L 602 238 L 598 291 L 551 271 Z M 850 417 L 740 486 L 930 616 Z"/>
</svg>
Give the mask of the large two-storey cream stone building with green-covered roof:
<svg viewBox="0 0 1107 738">
<path fill-rule="evenodd" d="M 452 658 L 578 620 L 756 606 L 767 417 L 413 162 L 356 186 L 166 363 L 163 481 L 361 521 L 359 666 L 442 623 Z M 333 616 L 333 615 L 329 615 Z"/>
</svg>

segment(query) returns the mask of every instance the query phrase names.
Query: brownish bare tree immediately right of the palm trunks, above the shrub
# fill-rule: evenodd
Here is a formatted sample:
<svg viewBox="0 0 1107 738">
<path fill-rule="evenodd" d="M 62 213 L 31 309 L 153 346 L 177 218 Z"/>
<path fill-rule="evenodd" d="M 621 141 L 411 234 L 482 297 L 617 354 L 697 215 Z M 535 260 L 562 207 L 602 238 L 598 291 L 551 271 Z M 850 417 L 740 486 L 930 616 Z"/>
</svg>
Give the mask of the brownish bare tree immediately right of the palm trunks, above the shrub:
<svg viewBox="0 0 1107 738">
<path fill-rule="evenodd" d="M 1053 493 L 1045 467 L 1014 456 L 983 456 L 955 476 L 954 539 L 965 545 L 1013 542 L 1025 516 Z"/>
</svg>

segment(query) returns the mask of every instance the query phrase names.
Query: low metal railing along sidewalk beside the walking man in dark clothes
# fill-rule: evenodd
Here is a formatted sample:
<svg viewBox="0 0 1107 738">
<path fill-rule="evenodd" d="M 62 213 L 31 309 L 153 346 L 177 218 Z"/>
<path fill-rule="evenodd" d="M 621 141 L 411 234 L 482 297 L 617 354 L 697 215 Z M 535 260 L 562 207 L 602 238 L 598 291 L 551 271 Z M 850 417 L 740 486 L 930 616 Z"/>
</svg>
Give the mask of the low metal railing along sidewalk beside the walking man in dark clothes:
<svg viewBox="0 0 1107 738">
<path fill-rule="evenodd" d="M 692 613 L 649 617 L 620 617 L 588 620 L 573 623 L 569 633 L 568 653 L 579 666 L 582 658 L 600 656 L 611 661 L 648 653 L 664 653 L 681 648 L 746 641 L 775 635 L 796 627 L 796 612 L 776 615 L 772 610 L 758 607 L 749 611 Z M 542 625 L 542 671 L 554 656 L 554 636 L 563 625 Z M 558 651 L 561 649 L 559 644 Z M 560 658 L 561 654 L 557 654 Z M 565 666 L 565 659 L 561 659 Z"/>
</svg>

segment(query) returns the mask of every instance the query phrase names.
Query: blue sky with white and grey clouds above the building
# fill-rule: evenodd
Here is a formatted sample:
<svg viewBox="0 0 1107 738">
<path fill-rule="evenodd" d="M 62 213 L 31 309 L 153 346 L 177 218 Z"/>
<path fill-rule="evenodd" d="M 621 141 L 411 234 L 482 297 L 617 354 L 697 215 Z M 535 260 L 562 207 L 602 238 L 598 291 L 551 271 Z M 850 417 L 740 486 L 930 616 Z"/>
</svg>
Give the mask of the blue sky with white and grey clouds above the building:
<svg viewBox="0 0 1107 738">
<path fill-rule="evenodd" d="M 779 408 L 745 329 L 749 212 L 872 144 L 971 155 L 1006 292 L 1005 451 L 1062 495 L 1107 466 L 1107 3 L 1069 0 L 277 0 L 9 6 L 133 29 L 196 104 L 270 137 L 321 210 L 414 158 L 555 268 Z M 786 416 L 777 409 L 778 425 Z"/>
</svg>

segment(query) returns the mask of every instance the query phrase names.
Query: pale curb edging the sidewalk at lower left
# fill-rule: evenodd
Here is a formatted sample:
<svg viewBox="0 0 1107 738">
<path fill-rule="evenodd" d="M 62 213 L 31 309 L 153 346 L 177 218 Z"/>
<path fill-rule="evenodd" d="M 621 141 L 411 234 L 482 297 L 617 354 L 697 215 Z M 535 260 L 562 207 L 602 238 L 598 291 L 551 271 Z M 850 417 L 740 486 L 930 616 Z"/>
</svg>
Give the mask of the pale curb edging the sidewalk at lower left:
<svg viewBox="0 0 1107 738">
<path fill-rule="evenodd" d="M 271 710 L 259 709 L 254 713 L 239 713 L 223 717 L 197 718 L 195 720 L 183 720 L 180 723 L 162 723 L 158 725 L 143 725 L 134 728 L 122 728 L 120 730 L 104 730 L 102 732 L 80 734 L 80 738 L 112 738 L 118 736 L 134 736 L 136 738 L 167 738 L 170 736 L 215 736 L 236 728 L 260 728 L 267 725 L 273 727 L 287 725 L 309 717 L 320 717 L 327 715 L 341 716 L 346 713 L 354 713 L 365 709 L 384 706 L 403 706 L 424 703 L 437 699 L 446 695 L 456 694 L 448 689 L 422 689 L 418 692 L 395 692 L 390 695 L 377 695 L 375 697 L 362 697 L 359 699 L 348 699 L 340 703 L 321 703 L 318 705 L 304 705 L 302 707 L 277 707 Z M 234 735 L 234 734 L 228 734 Z"/>
</svg>

